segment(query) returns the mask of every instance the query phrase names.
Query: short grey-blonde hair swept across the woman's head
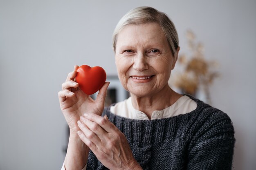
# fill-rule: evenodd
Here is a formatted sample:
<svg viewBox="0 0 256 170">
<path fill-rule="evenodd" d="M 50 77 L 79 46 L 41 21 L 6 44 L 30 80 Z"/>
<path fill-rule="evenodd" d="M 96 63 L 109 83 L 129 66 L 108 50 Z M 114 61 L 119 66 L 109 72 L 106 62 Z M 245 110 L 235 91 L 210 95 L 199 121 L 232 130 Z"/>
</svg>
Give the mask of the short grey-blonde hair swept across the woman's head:
<svg viewBox="0 0 256 170">
<path fill-rule="evenodd" d="M 112 36 L 114 51 L 116 51 L 118 33 L 124 28 L 124 26 L 132 24 L 146 24 L 150 22 L 157 23 L 161 26 L 171 48 L 171 52 L 175 57 L 179 46 L 179 38 L 175 26 L 166 13 L 160 12 L 152 7 L 137 7 L 130 10 L 121 18 L 121 20 L 119 20 Z"/>
</svg>

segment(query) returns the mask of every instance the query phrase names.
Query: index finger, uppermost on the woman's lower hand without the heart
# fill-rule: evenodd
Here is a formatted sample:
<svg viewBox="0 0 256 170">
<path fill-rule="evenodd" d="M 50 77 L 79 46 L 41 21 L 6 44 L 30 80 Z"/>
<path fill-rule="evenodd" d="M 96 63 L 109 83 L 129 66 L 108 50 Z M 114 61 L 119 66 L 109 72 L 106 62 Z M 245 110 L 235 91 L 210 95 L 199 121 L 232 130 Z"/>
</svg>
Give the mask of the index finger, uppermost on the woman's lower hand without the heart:
<svg viewBox="0 0 256 170">
<path fill-rule="evenodd" d="M 105 116 L 101 117 L 94 113 L 85 113 L 83 116 L 86 119 L 89 119 L 90 121 L 94 121 L 95 123 L 97 123 L 106 132 L 113 132 L 115 130 L 118 130 L 118 128 L 114 124 L 112 124 L 112 122 L 110 122 L 108 119 L 106 119 Z"/>
</svg>

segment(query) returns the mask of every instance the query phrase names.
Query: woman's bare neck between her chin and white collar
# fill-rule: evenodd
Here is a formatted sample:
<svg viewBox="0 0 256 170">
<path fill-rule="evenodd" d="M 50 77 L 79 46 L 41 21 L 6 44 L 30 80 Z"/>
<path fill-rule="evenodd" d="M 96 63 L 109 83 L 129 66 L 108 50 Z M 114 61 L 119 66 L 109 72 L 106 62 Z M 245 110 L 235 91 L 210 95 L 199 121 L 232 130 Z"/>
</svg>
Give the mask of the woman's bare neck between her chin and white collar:
<svg viewBox="0 0 256 170">
<path fill-rule="evenodd" d="M 132 106 L 143 113 L 149 119 L 155 110 L 163 110 L 174 104 L 182 95 L 173 91 L 168 84 L 158 93 L 146 97 L 137 97 L 131 94 Z"/>
</svg>

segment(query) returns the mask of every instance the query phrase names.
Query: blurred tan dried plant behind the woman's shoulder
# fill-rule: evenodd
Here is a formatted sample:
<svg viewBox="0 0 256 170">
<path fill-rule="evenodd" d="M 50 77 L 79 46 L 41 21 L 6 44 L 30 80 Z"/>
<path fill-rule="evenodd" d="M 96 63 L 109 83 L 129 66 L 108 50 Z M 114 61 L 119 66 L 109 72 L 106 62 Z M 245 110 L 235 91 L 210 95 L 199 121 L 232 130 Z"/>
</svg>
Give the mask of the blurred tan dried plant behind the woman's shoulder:
<svg viewBox="0 0 256 170">
<path fill-rule="evenodd" d="M 179 88 L 182 93 L 195 97 L 200 88 L 202 88 L 206 95 L 206 102 L 211 103 L 209 86 L 219 76 L 219 73 L 214 71 L 218 63 L 205 60 L 203 54 L 204 46 L 200 42 L 195 42 L 195 34 L 191 30 L 186 32 L 186 38 L 191 56 L 187 57 L 185 54 L 179 55 L 178 64 L 182 66 L 184 71 L 177 73 L 171 84 Z"/>
</svg>

